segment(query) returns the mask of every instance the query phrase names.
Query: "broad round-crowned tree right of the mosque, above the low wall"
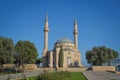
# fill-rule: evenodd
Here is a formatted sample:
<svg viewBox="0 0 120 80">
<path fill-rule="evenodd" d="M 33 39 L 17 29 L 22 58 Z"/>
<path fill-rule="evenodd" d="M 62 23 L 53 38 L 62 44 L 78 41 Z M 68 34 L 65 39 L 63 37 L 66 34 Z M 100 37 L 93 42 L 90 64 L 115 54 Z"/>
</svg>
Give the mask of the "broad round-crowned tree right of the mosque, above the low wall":
<svg viewBox="0 0 120 80">
<path fill-rule="evenodd" d="M 110 65 L 110 61 L 118 56 L 119 55 L 117 51 L 105 46 L 93 47 L 92 50 L 88 50 L 86 52 L 87 62 L 92 65 L 102 65 L 106 62 L 108 62 L 108 65 Z"/>
</svg>

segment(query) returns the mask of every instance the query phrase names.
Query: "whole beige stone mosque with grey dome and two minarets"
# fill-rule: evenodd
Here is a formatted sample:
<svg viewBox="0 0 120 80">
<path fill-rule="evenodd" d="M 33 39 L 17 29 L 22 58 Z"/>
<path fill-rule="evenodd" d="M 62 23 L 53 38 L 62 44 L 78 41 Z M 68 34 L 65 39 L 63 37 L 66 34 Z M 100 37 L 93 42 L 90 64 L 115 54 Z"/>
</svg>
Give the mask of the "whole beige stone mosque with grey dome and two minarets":
<svg viewBox="0 0 120 80">
<path fill-rule="evenodd" d="M 63 68 L 68 67 L 80 67 L 81 64 L 81 53 L 78 50 L 78 29 L 77 21 L 74 21 L 74 43 L 67 37 L 58 39 L 53 50 L 48 50 L 48 16 L 45 18 L 44 24 L 44 49 L 42 53 L 43 67 L 59 68 L 59 53 L 61 47 L 63 48 Z"/>
</svg>

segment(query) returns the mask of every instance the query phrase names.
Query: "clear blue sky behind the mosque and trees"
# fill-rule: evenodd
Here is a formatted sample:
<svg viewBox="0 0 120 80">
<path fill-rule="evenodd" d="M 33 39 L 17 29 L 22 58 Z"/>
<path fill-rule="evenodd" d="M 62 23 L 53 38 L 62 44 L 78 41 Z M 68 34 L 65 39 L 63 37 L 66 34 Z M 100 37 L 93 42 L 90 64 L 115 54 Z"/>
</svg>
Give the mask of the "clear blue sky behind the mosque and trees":
<svg viewBox="0 0 120 80">
<path fill-rule="evenodd" d="M 82 64 L 94 46 L 120 53 L 120 0 L 0 0 L 0 36 L 34 43 L 39 57 L 44 47 L 44 21 L 48 14 L 49 50 L 61 37 L 72 41 L 74 19 L 78 24 Z"/>
</svg>

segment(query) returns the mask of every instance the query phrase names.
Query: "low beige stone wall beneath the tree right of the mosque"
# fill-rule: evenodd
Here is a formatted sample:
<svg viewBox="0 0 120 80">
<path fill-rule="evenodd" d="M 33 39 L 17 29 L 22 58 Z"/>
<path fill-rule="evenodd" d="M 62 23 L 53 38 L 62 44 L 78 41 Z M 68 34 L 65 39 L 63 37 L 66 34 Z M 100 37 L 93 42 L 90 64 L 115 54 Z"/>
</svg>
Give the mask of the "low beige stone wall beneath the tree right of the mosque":
<svg viewBox="0 0 120 80">
<path fill-rule="evenodd" d="M 93 66 L 93 71 L 115 71 L 115 66 Z"/>
</svg>

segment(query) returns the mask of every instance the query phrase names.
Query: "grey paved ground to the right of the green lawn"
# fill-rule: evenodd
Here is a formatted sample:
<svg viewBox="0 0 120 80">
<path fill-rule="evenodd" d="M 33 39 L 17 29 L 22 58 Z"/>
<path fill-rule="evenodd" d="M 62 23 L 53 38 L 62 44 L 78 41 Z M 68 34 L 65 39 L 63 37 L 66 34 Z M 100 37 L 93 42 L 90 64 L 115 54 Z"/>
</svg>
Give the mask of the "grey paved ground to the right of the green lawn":
<svg viewBox="0 0 120 80">
<path fill-rule="evenodd" d="M 120 80 L 120 74 L 111 72 L 84 71 L 83 74 L 88 80 Z"/>
</svg>

